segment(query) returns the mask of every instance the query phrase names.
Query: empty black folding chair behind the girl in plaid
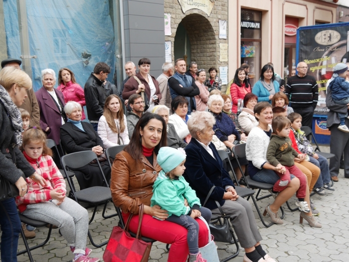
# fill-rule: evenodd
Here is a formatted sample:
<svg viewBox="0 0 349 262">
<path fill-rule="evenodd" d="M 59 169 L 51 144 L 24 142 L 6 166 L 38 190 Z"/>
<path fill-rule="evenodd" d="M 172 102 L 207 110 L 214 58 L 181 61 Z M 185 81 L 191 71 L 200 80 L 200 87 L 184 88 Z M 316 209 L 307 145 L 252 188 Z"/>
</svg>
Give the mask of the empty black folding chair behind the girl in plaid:
<svg viewBox="0 0 349 262">
<path fill-rule="evenodd" d="M 96 173 L 94 175 L 95 176 L 98 176 L 98 175 L 102 176 L 103 182 L 105 183 L 106 187 L 95 186 L 95 187 L 82 189 L 80 191 L 76 191 L 74 186 L 71 183 L 71 180 L 67 179 L 70 190 L 72 192 L 72 195 L 73 195 L 75 201 L 78 203 L 84 202 L 84 203 L 87 203 L 88 205 L 94 206 L 93 214 L 92 214 L 92 217 L 89 221 L 89 224 L 91 224 L 91 222 L 93 221 L 93 219 L 96 215 L 97 208 L 101 204 L 104 204 L 104 208 L 103 208 L 103 212 L 102 212 L 102 217 L 104 219 L 117 216 L 117 214 L 113 214 L 110 216 L 105 215 L 107 204 L 112 199 L 112 195 L 111 195 L 111 191 L 110 191 L 108 182 L 104 176 L 102 167 L 97 159 L 97 155 L 93 151 L 81 151 L 81 152 L 71 153 L 71 154 L 68 154 L 68 155 L 61 157 L 61 164 L 62 164 L 62 167 L 63 167 L 63 170 L 64 170 L 66 176 L 67 176 L 67 171 L 69 169 L 79 169 L 83 166 L 88 165 L 93 160 L 96 160 L 98 167 L 99 167 L 99 170 L 100 170 L 100 174 Z M 103 247 L 104 245 L 106 245 L 108 243 L 108 241 L 106 241 L 106 242 L 103 242 L 99 245 L 96 245 L 93 242 L 90 231 L 88 232 L 88 237 L 91 241 L 91 244 L 96 248 Z"/>
</svg>

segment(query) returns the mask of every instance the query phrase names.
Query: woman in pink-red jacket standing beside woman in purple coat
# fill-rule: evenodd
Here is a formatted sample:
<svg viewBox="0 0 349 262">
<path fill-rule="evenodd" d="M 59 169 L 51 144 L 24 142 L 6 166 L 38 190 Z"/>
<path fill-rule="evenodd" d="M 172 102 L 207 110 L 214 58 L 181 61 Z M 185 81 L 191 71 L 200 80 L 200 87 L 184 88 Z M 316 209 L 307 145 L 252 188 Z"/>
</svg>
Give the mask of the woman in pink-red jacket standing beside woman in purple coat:
<svg viewBox="0 0 349 262">
<path fill-rule="evenodd" d="M 84 89 L 76 83 L 74 73 L 68 68 L 61 68 L 58 72 L 58 90 L 63 93 L 64 102 L 74 101 L 84 107 L 86 105 Z M 82 109 L 81 120 L 86 118 Z"/>
</svg>

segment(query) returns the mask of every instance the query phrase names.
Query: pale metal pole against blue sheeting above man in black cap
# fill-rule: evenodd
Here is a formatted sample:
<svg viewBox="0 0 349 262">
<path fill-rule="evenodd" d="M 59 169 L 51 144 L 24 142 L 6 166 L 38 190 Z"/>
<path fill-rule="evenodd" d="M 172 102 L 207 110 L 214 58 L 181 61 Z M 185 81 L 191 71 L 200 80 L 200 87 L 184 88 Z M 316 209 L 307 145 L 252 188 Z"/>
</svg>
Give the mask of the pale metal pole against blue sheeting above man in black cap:
<svg viewBox="0 0 349 262">
<path fill-rule="evenodd" d="M 28 20 L 25 0 L 17 0 L 17 12 L 22 67 L 23 71 L 32 77 L 30 58 L 36 58 L 36 55 L 30 56 Z"/>
</svg>

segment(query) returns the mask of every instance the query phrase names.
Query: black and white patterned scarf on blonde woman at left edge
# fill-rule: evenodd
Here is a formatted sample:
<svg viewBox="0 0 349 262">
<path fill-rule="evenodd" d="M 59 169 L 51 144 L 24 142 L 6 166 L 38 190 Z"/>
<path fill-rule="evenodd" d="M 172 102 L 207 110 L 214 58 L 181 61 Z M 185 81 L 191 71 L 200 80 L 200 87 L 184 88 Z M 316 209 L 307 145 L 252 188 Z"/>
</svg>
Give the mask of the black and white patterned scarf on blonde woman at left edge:
<svg viewBox="0 0 349 262">
<path fill-rule="evenodd" d="M 0 100 L 6 109 L 9 119 L 14 128 L 16 143 L 12 144 L 12 148 L 22 144 L 23 121 L 18 107 L 13 103 L 6 89 L 0 85 Z"/>
</svg>

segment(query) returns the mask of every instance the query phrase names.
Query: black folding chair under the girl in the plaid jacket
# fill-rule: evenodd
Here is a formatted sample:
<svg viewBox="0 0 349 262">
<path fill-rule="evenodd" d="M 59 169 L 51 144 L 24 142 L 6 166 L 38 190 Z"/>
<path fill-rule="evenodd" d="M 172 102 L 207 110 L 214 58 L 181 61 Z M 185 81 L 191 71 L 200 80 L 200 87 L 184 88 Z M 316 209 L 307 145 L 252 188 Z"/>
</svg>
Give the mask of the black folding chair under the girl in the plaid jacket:
<svg viewBox="0 0 349 262">
<path fill-rule="evenodd" d="M 20 222 L 22 222 L 22 223 L 24 223 L 26 225 L 30 225 L 30 226 L 35 227 L 35 228 L 41 228 L 41 227 L 45 227 L 47 225 L 47 222 L 42 222 L 42 221 L 30 219 L 30 218 L 28 218 L 26 216 L 21 215 L 20 213 L 18 213 L 18 216 L 19 216 Z M 23 228 L 20 227 L 20 235 L 22 236 L 22 239 L 23 239 L 23 242 L 24 242 L 24 246 L 25 246 L 25 250 L 19 251 L 17 253 L 17 256 L 25 254 L 25 253 L 28 253 L 29 261 L 30 262 L 34 262 L 32 256 L 31 256 L 30 251 L 45 246 L 46 243 L 49 241 L 49 239 L 51 237 L 51 231 L 52 231 L 52 225 L 50 225 L 50 227 L 48 229 L 47 237 L 44 240 L 44 242 L 42 242 L 41 244 L 37 244 L 34 247 L 29 248 L 28 242 L 27 242 L 27 240 L 26 240 L 26 238 L 24 236 Z"/>
</svg>

